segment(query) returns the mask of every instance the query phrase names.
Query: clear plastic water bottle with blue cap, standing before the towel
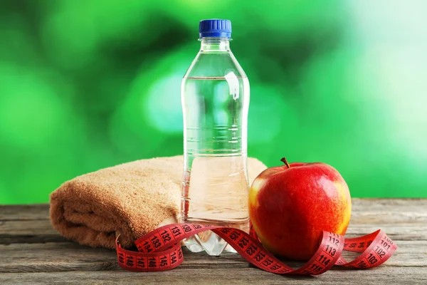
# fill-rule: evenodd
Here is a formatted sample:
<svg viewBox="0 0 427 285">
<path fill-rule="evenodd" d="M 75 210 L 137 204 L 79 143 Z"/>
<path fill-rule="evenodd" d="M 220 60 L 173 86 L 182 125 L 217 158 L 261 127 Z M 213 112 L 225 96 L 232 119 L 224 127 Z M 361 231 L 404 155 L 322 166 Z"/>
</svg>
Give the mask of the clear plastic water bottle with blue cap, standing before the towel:
<svg viewBox="0 0 427 285">
<path fill-rule="evenodd" d="M 201 48 L 181 85 L 184 175 L 181 222 L 248 232 L 249 81 L 230 50 L 231 22 L 200 22 Z M 214 232 L 185 241 L 191 252 L 233 248 Z"/>
</svg>

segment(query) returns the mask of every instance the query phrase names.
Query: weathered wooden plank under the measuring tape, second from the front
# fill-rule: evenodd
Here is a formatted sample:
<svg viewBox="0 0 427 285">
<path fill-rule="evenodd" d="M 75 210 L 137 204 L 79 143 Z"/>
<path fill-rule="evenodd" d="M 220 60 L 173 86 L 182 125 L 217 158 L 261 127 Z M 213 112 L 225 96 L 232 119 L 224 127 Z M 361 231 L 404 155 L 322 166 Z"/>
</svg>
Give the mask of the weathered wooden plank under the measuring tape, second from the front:
<svg viewBox="0 0 427 285">
<path fill-rule="evenodd" d="M 385 266 L 427 267 L 426 241 L 399 241 L 398 244 L 399 250 Z M 185 261 L 180 269 L 251 267 L 238 254 L 224 253 L 221 257 L 209 257 L 204 253 L 191 253 L 185 248 L 183 251 Z M 84 247 L 73 242 L 0 245 L 0 252 L 8 257 L 0 259 L 1 273 L 121 270 L 117 265 L 115 251 Z M 344 258 L 348 261 L 357 255 L 344 252 Z M 294 268 L 303 264 L 296 261 L 285 262 Z"/>
</svg>

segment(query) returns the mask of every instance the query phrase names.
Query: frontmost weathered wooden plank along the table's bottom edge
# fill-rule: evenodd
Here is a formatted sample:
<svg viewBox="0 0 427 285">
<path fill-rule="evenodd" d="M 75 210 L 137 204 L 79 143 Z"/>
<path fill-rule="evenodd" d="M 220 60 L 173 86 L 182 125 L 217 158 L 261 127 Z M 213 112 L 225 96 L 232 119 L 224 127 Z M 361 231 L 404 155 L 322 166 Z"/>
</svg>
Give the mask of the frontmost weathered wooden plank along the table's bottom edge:
<svg viewBox="0 0 427 285">
<path fill-rule="evenodd" d="M 427 284 L 426 269 L 381 267 L 334 270 L 321 276 L 281 276 L 255 268 L 182 269 L 164 272 L 75 271 L 0 274 L 1 284 Z"/>
</svg>

